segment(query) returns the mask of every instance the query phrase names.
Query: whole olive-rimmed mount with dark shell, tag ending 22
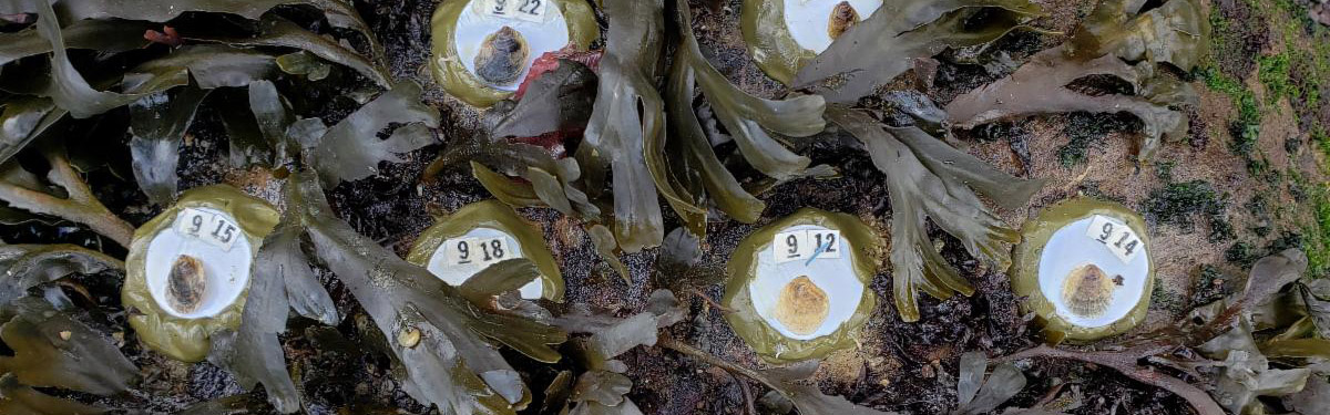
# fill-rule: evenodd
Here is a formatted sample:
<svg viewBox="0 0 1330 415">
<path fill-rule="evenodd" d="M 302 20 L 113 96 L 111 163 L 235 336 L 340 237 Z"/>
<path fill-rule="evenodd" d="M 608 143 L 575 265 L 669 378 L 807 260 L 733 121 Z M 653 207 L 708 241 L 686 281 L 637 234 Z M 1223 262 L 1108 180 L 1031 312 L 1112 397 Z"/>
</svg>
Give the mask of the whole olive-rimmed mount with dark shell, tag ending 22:
<svg viewBox="0 0 1330 415">
<path fill-rule="evenodd" d="M 600 37 L 596 13 L 576 0 L 446 0 L 430 31 L 434 78 L 475 106 L 509 97 L 547 52 L 587 51 Z"/>
</svg>

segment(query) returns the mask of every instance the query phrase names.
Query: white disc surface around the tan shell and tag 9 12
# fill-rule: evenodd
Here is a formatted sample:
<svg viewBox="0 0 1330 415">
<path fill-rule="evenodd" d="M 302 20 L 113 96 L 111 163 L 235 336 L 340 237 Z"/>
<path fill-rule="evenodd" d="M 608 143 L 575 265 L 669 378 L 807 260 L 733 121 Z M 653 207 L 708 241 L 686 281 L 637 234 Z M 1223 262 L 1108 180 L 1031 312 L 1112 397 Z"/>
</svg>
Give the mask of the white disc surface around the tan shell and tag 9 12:
<svg viewBox="0 0 1330 415">
<path fill-rule="evenodd" d="M 781 231 L 791 230 L 827 230 L 827 227 L 797 225 Z M 749 297 L 753 299 L 753 307 L 757 310 L 758 317 L 779 331 L 781 335 L 791 339 L 807 341 L 835 333 L 841 329 L 841 325 L 854 315 L 854 311 L 859 309 L 859 302 L 863 299 L 864 286 L 859 282 L 859 277 L 854 274 L 851 259 L 854 255 L 850 254 L 853 249 L 850 241 L 842 239 L 842 254 L 839 258 L 818 257 L 811 263 L 805 265 L 805 261 L 777 263 L 771 253 L 771 246 L 767 245 L 758 253 L 757 277 L 747 285 Z M 827 302 L 830 303 L 826 319 L 811 334 L 795 334 L 775 318 L 775 306 L 781 298 L 781 290 L 790 281 L 801 275 L 807 275 L 813 281 L 813 285 L 826 293 Z"/>
</svg>

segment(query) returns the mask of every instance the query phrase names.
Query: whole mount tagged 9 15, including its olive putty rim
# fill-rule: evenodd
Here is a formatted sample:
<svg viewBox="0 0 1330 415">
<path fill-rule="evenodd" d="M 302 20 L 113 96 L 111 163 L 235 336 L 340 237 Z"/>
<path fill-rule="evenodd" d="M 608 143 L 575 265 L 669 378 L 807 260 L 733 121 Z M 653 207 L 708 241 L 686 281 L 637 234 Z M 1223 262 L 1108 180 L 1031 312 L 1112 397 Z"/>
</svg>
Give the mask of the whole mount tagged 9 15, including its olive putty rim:
<svg viewBox="0 0 1330 415">
<path fill-rule="evenodd" d="M 210 334 L 237 329 L 250 265 L 278 211 L 226 185 L 196 188 L 134 231 L 121 302 L 149 348 L 198 362 Z"/>
</svg>

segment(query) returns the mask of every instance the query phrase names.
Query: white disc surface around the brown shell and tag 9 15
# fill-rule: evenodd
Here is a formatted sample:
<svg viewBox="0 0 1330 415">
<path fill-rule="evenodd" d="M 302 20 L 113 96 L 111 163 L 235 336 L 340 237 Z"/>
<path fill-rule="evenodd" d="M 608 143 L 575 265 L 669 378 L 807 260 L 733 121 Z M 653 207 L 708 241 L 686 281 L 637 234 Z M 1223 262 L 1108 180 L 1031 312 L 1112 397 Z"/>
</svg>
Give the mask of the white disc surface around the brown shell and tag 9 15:
<svg viewBox="0 0 1330 415">
<path fill-rule="evenodd" d="M 225 211 L 211 208 L 194 209 L 237 223 L 235 218 Z M 184 213 L 185 210 L 181 210 L 181 214 Z M 176 263 L 176 259 L 181 254 L 198 258 L 203 263 L 203 275 L 207 279 L 202 302 L 192 313 L 180 313 L 170 306 L 170 301 L 166 297 L 172 265 Z M 250 249 L 250 239 L 243 231 L 237 233 L 235 242 L 230 250 L 223 250 L 198 237 L 182 234 L 176 230 L 176 226 L 170 226 L 157 233 L 152 242 L 148 242 L 145 262 L 148 291 L 157 301 L 158 307 L 180 318 L 205 318 L 217 315 L 222 309 L 235 302 L 241 293 L 245 291 L 245 287 L 249 285 L 250 265 L 254 262 L 254 251 Z"/>
</svg>

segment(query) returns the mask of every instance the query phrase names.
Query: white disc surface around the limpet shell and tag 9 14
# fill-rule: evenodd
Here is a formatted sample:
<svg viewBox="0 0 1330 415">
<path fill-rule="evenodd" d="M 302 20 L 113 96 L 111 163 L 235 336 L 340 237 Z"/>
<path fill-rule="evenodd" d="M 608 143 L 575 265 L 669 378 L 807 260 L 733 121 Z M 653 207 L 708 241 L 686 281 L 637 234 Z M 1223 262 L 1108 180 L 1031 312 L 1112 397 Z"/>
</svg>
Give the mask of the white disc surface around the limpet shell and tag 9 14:
<svg viewBox="0 0 1330 415">
<path fill-rule="evenodd" d="M 1059 317 L 1081 327 L 1103 327 L 1117 322 L 1132 313 L 1141 295 L 1150 287 L 1145 286 L 1150 267 L 1149 246 L 1142 246 L 1130 262 L 1124 263 L 1113 253 L 1091 237 L 1087 237 L 1093 217 L 1081 218 L 1063 226 L 1048 238 L 1039 257 L 1039 290 L 1053 303 Z M 1071 311 L 1063 301 L 1063 282 L 1068 273 L 1087 263 L 1099 266 L 1109 278 L 1123 275 L 1123 285 L 1113 290 L 1108 310 L 1092 318 Z"/>
</svg>

